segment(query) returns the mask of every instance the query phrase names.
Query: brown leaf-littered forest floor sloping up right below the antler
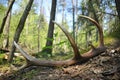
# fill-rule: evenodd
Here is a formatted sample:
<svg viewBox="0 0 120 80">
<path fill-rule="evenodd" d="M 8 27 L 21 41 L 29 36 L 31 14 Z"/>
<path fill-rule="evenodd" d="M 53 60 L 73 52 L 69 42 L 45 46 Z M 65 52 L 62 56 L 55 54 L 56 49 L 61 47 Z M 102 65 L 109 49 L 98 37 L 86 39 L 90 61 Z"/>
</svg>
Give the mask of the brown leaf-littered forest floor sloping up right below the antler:
<svg viewBox="0 0 120 80">
<path fill-rule="evenodd" d="M 69 67 L 31 66 L 0 80 L 120 80 L 120 47 L 109 48 L 81 65 Z"/>
</svg>

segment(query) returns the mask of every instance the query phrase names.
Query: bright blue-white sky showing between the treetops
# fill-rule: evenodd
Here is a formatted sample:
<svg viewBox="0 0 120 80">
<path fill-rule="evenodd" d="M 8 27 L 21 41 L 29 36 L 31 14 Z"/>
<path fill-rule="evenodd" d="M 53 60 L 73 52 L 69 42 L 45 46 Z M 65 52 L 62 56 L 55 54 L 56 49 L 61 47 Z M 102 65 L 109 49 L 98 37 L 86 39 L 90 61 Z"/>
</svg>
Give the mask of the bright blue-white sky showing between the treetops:
<svg viewBox="0 0 120 80">
<path fill-rule="evenodd" d="M 12 13 L 17 12 L 19 10 L 19 3 L 21 0 L 16 0 L 15 4 L 13 5 L 13 9 L 12 9 Z M 76 0 L 75 0 L 76 1 Z M 47 22 L 49 22 L 49 18 L 50 18 L 50 9 L 51 9 L 51 0 L 43 0 L 43 4 L 42 4 L 42 12 L 47 20 Z M 81 0 L 78 0 L 78 6 L 80 6 Z M 7 0 L 0 0 L 1 4 L 4 4 L 5 6 L 7 6 Z M 74 2 L 76 3 L 76 2 Z M 41 0 L 34 0 L 34 4 L 35 4 L 35 10 L 36 13 L 39 14 L 40 13 L 40 5 L 41 5 Z M 67 20 L 67 23 L 69 23 L 69 27 L 70 29 L 72 28 L 72 0 L 65 0 L 65 19 Z M 62 22 L 62 7 L 58 7 L 60 6 L 59 0 L 57 3 L 57 14 L 56 14 L 56 21 L 61 23 Z M 80 14 L 80 12 L 78 13 Z M 75 16 L 76 17 L 76 16 Z"/>
</svg>

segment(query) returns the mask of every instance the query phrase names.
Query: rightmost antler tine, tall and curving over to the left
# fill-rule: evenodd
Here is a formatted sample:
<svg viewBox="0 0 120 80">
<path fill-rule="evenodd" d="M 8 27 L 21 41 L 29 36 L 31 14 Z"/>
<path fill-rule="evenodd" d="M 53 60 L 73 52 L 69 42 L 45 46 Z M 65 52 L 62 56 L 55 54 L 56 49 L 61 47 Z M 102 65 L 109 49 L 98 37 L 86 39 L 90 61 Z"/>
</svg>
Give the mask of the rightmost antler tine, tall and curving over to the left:
<svg viewBox="0 0 120 80">
<path fill-rule="evenodd" d="M 102 30 L 102 27 L 100 26 L 100 24 L 88 16 L 80 15 L 80 17 L 86 18 L 96 25 L 96 27 L 99 31 L 99 44 L 100 44 L 99 46 L 104 46 L 103 30 Z"/>
</svg>

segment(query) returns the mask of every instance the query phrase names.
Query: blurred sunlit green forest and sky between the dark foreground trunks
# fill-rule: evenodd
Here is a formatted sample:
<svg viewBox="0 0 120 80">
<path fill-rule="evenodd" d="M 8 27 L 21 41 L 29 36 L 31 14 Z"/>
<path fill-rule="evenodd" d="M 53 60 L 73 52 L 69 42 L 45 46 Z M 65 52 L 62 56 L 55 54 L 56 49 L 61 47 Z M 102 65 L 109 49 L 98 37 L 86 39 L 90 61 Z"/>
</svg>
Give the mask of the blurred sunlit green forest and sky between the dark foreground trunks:
<svg viewBox="0 0 120 80">
<path fill-rule="evenodd" d="M 3 44 L 0 45 L 1 47 L 5 46 L 4 39 L 9 35 L 9 46 L 7 47 L 10 48 L 10 43 L 13 41 L 16 27 L 19 23 L 20 17 L 23 13 L 23 10 L 25 9 L 27 2 L 28 0 L 17 0 L 13 5 L 10 23 L 8 23 L 10 27 L 8 29 L 4 29 L 3 34 L 1 35 L 2 37 L 0 43 Z M 39 52 L 45 48 L 45 43 L 47 40 L 46 31 L 48 31 L 48 24 L 50 19 L 49 2 L 50 0 L 34 1 L 31 11 L 27 17 L 19 43 L 29 50 Z M 0 23 L 2 23 L 2 18 L 4 17 L 5 11 L 7 10 L 8 2 L 1 0 L 0 6 Z M 56 8 L 57 10 L 55 20 L 65 26 L 71 32 L 71 34 L 74 34 L 76 43 L 81 48 L 88 47 L 89 41 L 93 43 L 96 43 L 98 41 L 98 33 L 94 25 L 87 20 L 79 18 L 79 15 L 81 14 L 90 16 L 99 22 L 103 26 L 104 36 L 114 36 L 118 38 L 120 37 L 118 33 L 115 33 L 115 30 L 118 30 L 119 28 L 119 20 L 117 17 L 114 0 L 58 0 Z M 7 32 L 7 34 L 5 32 Z M 54 53 L 57 51 L 67 52 L 71 50 L 69 48 L 69 43 L 67 42 L 66 37 L 58 27 L 55 27 L 53 42 Z"/>
</svg>

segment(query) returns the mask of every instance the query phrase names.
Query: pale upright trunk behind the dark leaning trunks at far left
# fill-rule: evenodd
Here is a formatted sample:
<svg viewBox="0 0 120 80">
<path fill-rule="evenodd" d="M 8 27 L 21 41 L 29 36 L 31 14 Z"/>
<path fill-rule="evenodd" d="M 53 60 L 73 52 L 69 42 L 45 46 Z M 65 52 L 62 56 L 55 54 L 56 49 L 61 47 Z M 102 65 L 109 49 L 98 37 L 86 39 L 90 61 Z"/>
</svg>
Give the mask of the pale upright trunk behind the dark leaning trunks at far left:
<svg viewBox="0 0 120 80">
<path fill-rule="evenodd" d="M 11 0 L 8 1 L 8 6 L 10 6 Z M 9 27 L 10 27 L 10 19 L 11 19 L 11 10 L 8 13 L 6 22 L 5 22 L 5 29 L 3 31 L 4 34 L 4 40 L 3 40 L 3 48 L 8 49 L 9 46 Z"/>
</svg>

